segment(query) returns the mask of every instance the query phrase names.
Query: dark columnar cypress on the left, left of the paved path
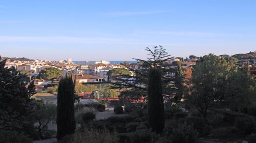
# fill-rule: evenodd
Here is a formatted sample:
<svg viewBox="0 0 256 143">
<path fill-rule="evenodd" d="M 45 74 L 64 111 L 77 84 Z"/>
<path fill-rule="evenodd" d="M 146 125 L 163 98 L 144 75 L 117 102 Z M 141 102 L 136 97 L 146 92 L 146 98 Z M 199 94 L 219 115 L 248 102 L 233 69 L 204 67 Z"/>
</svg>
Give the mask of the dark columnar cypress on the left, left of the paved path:
<svg viewBox="0 0 256 143">
<path fill-rule="evenodd" d="M 57 139 L 75 132 L 74 82 L 66 75 L 60 79 L 57 98 Z"/>
</svg>

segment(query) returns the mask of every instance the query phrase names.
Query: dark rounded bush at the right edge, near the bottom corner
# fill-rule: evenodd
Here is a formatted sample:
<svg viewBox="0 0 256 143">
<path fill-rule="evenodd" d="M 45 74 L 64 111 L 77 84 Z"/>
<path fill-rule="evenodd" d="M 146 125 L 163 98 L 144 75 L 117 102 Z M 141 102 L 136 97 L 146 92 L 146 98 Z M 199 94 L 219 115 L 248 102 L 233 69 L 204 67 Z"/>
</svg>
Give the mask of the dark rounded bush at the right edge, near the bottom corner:
<svg viewBox="0 0 256 143">
<path fill-rule="evenodd" d="M 234 125 L 245 134 L 251 134 L 255 130 L 255 122 L 251 117 L 238 117 Z"/>
</svg>

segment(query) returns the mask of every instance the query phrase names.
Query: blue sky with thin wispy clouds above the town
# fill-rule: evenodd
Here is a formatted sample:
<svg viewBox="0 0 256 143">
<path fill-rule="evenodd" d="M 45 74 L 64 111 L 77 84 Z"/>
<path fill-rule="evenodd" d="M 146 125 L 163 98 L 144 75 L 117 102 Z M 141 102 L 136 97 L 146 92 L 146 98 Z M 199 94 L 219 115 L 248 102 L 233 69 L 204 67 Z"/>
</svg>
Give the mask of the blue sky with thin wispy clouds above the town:
<svg viewBox="0 0 256 143">
<path fill-rule="evenodd" d="M 0 1 L 0 54 L 73 61 L 256 50 L 255 0 Z"/>
</svg>

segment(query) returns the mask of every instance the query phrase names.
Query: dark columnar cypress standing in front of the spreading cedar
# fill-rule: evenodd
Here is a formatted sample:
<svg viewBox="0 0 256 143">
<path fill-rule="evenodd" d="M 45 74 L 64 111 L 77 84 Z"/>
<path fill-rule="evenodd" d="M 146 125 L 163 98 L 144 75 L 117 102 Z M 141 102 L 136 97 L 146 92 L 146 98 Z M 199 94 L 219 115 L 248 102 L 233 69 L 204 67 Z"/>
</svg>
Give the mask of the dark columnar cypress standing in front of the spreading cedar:
<svg viewBox="0 0 256 143">
<path fill-rule="evenodd" d="M 153 132 L 161 133 L 164 129 L 164 105 L 159 69 L 150 69 L 147 89 L 148 123 Z"/>
</svg>

